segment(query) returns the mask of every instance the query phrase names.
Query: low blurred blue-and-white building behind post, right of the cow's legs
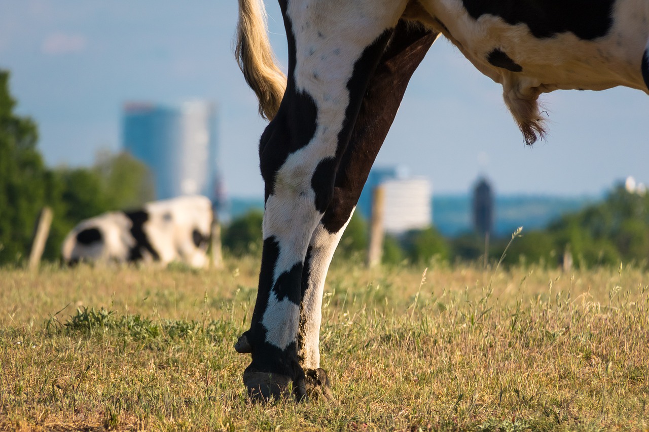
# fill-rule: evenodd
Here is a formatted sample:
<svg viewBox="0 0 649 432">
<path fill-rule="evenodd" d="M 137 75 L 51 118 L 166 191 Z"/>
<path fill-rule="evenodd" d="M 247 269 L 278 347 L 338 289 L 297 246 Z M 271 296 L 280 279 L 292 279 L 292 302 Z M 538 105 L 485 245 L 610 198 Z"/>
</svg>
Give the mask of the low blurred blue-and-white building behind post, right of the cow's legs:
<svg viewBox="0 0 649 432">
<path fill-rule="evenodd" d="M 432 186 L 427 178 L 410 177 L 404 167 L 379 167 L 370 172 L 357 211 L 369 219 L 373 191 L 384 187 L 383 226 L 390 234 L 421 230 L 432 224 Z"/>
</svg>

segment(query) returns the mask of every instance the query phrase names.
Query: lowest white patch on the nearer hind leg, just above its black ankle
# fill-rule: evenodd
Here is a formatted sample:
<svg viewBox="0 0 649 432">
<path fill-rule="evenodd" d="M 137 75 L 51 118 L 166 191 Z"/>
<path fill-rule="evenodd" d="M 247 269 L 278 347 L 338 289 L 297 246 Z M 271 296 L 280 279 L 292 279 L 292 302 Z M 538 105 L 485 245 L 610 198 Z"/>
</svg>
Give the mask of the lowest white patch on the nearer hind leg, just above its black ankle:
<svg viewBox="0 0 649 432">
<path fill-rule="evenodd" d="M 266 310 L 263 313 L 262 325 L 266 329 L 266 342 L 286 350 L 286 347 L 297 339 L 300 322 L 300 306 L 288 298 L 278 300 L 271 290 Z"/>
</svg>

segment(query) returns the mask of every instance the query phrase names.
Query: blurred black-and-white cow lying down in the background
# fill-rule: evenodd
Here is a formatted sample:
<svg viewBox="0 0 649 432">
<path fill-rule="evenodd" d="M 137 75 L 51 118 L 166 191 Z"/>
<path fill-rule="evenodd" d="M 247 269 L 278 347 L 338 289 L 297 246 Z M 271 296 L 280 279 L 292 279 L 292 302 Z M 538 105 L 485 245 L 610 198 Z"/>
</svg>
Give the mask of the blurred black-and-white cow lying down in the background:
<svg viewBox="0 0 649 432">
<path fill-rule="evenodd" d="M 212 202 L 201 196 L 149 202 L 136 211 L 111 211 L 79 222 L 66 236 L 63 259 L 71 264 L 180 261 L 205 267 L 213 219 Z"/>
</svg>

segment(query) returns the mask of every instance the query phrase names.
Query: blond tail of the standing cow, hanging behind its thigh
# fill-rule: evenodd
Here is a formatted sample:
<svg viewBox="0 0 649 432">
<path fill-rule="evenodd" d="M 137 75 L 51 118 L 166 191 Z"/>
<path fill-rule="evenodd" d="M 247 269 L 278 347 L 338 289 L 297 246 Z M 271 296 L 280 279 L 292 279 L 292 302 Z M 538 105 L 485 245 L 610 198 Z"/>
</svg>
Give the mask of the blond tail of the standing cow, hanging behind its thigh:
<svg viewBox="0 0 649 432">
<path fill-rule="evenodd" d="M 286 90 L 286 75 L 277 66 L 268 39 L 263 0 L 239 0 L 234 55 L 243 77 L 259 99 L 259 114 L 272 120 Z"/>
</svg>

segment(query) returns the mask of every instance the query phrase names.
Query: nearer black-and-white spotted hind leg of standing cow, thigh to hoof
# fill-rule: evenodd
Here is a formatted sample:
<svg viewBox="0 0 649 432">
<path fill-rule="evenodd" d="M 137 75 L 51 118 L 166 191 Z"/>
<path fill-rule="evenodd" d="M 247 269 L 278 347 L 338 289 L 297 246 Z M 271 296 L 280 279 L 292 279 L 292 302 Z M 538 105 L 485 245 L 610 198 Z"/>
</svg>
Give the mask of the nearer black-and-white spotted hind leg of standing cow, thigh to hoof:
<svg viewBox="0 0 649 432">
<path fill-rule="evenodd" d="M 243 381 L 258 400 L 306 394 L 297 355 L 304 259 L 334 195 L 337 166 L 367 80 L 403 8 L 392 0 L 380 7 L 368 2 L 365 10 L 319 0 L 295 3 L 280 1 L 289 42 L 288 83 L 260 141 L 262 269 L 251 328 L 237 345 L 252 354 Z M 354 23 L 353 13 L 363 19 Z"/>
</svg>

